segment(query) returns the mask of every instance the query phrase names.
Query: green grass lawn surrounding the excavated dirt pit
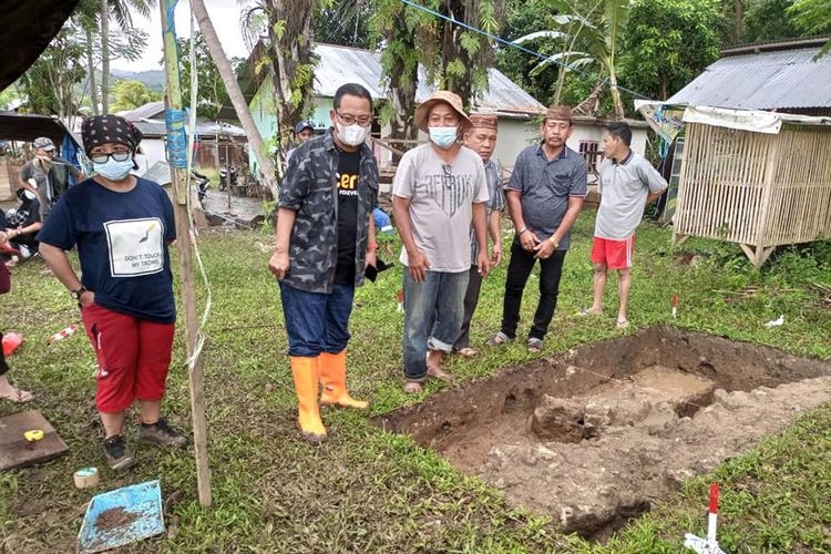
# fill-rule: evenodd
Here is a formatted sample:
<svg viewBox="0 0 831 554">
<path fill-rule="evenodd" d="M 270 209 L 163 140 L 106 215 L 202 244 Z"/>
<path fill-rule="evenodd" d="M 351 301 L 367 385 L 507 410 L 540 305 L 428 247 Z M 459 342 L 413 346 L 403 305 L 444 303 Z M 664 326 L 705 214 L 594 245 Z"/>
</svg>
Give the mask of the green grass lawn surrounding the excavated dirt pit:
<svg viewBox="0 0 831 554">
<path fill-rule="evenodd" d="M 593 215 L 587 212 L 578 222 L 543 356 L 622 334 L 615 329 L 614 278 L 603 318 L 574 316 L 591 302 Z M 820 306 L 812 285 L 831 285 L 831 243 L 779 253 L 759 273 L 738 248 L 706 240 L 684 245 L 702 257 L 683 266 L 669 238 L 668 229 L 654 225 L 638 234 L 633 328 L 626 332 L 676 325 L 831 359 L 831 311 Z M 278 288 L 261 249 L 270 237 L 214 232 L 204 234 L 199 245 L 213 290 L 205 375 L 214 505 L 205 509 L 196 501 L 189 450 L 136 447 L 137 468 L 125 474 L 106 469 L 93 403 L 92 349 L 82 334 L 47 346 L 49 336 L 80 316 L 69 294 L 35 260 L 14 271 L 13 291 L 0 299 L 2 328 L 24 335 L 25 345 L 10 359 L 11 375 L 37 393 L 32 407 L 52 422 L 70 453 L 43 466 L 0 473 L 0 552 L 70 552 L 94 492 L 156 478 L 165 496 L 181 491 L 167 517 L 176 521 L 176 530 L 130 552 L 680 552 L 684 532 L 705 533 L 707 485 L 714 479 L 722 485 L 720 540 L 727 552 L 831 552 L 831 407 L 802 416 L 715 475 L 686 483 L 677 497 L 602 546 L 558 534 L 543 514 L 511 507 L 496 490 L 409 438 L 376 429 L 365 414 L 325 411 L 330 440 L 306 444 L 294 427 Z M 397 258 L 394 240 L 382 242 L 381 256 Z M 483 286 L 473 321 L 476 347 L 497 330 L 504 271 L 503 264 Z M 529 288 L 536 283 L 532 278 Z M 400 287 L 397 264 L 356 296 L 350 384 L 357 398 L 372 401 L 372 414 L 444 387 L 430 383 L 418 398 L 400 390 Z M 741 289 L 752 294 L 731 294 Z M 526 293 L 521 334 L 527 332 L 536 300 L 534 290 Z M 677 320 L 670 312 L 674 294 L 680 299 Z M 781 314 L 782 327 L 765 327 Z M 186 428 L 182 329 L 174 357 L 166 410 L 168 420 Z M 522 343 L 482 348 L 475 360 L 451 360 L 449 370 L 464 382 L 531 358 Z M 0 402 L 0 416 L 19 410 Z M 72 484 L 72 473 L 86 465 L 102 470 L 98 490 L 79 491 Z"/>
</svg>

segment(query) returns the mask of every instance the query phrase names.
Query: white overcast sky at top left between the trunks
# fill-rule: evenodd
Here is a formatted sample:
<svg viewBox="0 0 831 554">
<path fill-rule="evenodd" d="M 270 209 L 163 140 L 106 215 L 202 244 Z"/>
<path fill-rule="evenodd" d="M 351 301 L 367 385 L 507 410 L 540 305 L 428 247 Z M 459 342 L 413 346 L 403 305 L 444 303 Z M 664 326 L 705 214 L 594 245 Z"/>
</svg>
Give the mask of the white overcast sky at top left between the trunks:
<svg viewBox="0 0 831 554">
<path fill-rule="evenodd" d="M 245 8 L 244 2 L 240 3 L 238 0 L 205 0 L 205 6 L 228 58 L 247 58 L 248 49 L 239 30 L 239 14 Z M 158 6 L 153 9 L 150 20 L 134 14 L 133 23 L 150 33 L 147 50 L 141 60 L 134 62 L 114 60 L 112 66 L 126 71 L 163 69 L 160 64 L 162 60 L 162 14 Z M 191 35 L 191 3 L 187 0 L 179 0 L 176 4 L 176 35 L 178 38 Z"/>
</svg>

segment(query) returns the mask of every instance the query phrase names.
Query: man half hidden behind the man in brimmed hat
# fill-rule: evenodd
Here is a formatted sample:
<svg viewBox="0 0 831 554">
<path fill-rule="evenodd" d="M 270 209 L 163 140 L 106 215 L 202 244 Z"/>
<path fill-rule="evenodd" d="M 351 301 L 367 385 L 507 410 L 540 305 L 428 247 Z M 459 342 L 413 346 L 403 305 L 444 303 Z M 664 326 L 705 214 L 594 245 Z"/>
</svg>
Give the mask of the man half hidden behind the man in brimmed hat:
<svg viewBox="0 0 831 554">
<path fill-rule="evenodd" d="M 464 133 L 464 145 L 479 154 L 485 168 L 488 179 L 488 201 L 485 217 L 488 218 L 488 233 L 491 236 L 491 267 L 496 267 L 502 260 L 502 230 L 500 229 L 500 217 L 505 209 L 505 195 L 502 192 L 502 172 L 496 162 L 491 158 L 496 147 L 497 120 L 495 115 L 472 113 L 470 115 L 471 129 Z M 479 304 L 479 291 L 482 288 L 482 276 L 476 267 L 479 257 L 479 245 L 471 228 L 471 269 L 468 280 L 468 290 L 464 294 L 464 317 L 462 318 L 462 330 L 453 345 L 453 351 L 462 356 L 475 356 L 476 351 L 470 347 L 470 322 Z"/>
</svg>

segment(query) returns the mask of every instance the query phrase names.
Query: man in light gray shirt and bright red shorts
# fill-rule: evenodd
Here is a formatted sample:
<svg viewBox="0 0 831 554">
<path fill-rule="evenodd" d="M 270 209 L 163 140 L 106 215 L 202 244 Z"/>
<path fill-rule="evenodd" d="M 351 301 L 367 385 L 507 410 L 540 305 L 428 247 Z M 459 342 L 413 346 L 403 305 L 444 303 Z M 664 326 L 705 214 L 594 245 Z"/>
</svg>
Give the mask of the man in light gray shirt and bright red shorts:
<svg viewBox="0 0 831 554">
<path fill-rule="evenodd" d="M 597 192 L 601 205 L 594 229 L 592 264 L 594 264 L 594 304 L 583 315 L 603 312 L 603 293 L 609 269 L 617 270 L 620 305 L 617 327 L 629 325 L 626 307 L 632 288 L 632 255 L 635 229 L 644 208 L 660 197 L 667 182 L 653 165 L 629 148 L 632 130 L 624 122 L 613 122 L 603 133 L 605 160 L 598 170 Z"/>
</svg>

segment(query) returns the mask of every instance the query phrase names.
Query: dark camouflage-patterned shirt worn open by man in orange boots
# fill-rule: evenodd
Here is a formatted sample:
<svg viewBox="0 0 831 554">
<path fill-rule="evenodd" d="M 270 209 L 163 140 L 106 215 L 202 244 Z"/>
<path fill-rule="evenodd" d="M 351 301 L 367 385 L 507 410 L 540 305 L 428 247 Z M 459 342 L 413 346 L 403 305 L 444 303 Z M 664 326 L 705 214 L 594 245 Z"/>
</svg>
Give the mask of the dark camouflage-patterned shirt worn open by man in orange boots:
<svg viewBox="0 0 831 554">
<path fill-rule="evenodd" d="M 358 233 L 355 285 L 363 285 L 369 216 L 378 206 L 378 165 L 371 148 L 361 145 L 358 174 Z M 297 212 L 289 240 L 288 275 L 284 283 L 310 293 L 331 293 L 338 265 L 338 148 L 331 127 L 295 150 L 280 187 L 278 205 Z"/>
</svg>

